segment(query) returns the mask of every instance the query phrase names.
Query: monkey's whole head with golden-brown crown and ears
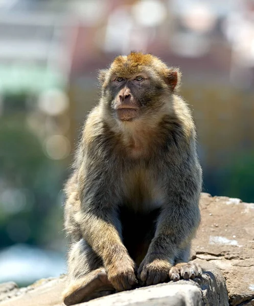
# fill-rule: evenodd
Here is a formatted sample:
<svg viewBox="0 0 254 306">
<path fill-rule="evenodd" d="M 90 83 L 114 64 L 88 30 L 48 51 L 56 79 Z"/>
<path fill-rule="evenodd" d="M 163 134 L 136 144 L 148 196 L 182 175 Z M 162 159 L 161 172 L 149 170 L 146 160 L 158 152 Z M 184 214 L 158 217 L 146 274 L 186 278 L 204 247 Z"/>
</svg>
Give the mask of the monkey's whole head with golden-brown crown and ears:
<svg viewBox="0 0 254 306">
<path fill-rule="evenodd" d="M 119 121 L 130 122 L 159 112 L 170 103 L 180 72 L 151 54 L 131 52 L 101 70 L 102 103 Z"/>
</svg>

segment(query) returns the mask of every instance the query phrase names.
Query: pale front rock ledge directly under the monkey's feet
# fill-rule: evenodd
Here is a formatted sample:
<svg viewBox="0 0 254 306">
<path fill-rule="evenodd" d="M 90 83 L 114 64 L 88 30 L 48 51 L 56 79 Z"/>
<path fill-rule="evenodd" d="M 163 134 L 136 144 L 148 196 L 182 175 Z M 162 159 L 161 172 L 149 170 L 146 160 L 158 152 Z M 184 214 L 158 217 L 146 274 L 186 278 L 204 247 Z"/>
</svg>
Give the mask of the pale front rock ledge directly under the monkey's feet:
<svg viewBox="0 0 254 306">
<path fill-rule="evenodd" d="M 225 278 L 218 268 L 202 260 L 195 260 L 203 270 L 202 278 L 138 288 L 99 299 L 80 306 L 100 305 L 167 305 L 167 306 L 226 306 L 228 296 Z M 65 276 L 42 279 L 27 288 L 17 289 L 13 283 L 3 284 L 0 302 L 3 306 L 60 306 Z M 1 292 L 1 291 L 0 291 Z M 2 300 L 2 301 L 1 301 Z"/>
</svg>

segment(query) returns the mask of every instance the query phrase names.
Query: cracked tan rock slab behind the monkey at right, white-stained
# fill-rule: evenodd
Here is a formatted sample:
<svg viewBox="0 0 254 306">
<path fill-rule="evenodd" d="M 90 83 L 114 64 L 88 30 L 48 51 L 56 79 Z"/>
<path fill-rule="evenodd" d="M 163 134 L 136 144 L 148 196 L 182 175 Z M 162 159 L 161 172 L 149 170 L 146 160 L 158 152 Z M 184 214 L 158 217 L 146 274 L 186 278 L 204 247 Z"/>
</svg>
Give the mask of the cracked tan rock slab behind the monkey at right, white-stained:
<svg viewBox="0 0 254 306">
<path fill-rule="evenodd" d="M 254 203 L 203 193 L 200 205 L 194 258 L 222 270 L 230 305 L 254 305 Z"/>
</svg>

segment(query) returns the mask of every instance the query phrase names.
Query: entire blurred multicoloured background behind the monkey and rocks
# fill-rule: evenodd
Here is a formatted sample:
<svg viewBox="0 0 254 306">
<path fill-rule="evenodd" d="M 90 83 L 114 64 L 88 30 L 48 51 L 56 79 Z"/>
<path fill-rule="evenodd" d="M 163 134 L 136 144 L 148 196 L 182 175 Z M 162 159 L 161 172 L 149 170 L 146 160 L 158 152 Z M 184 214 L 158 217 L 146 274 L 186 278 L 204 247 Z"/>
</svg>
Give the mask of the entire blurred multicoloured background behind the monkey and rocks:
<svg viewBox="0 0 254 306">
<path fill-rule="evenodd" d="M 181 68 L 203 191 L 254 201 L 254 1 L 0 0 L 0 282 L 65 272 L 62 185 L 98 69 L 131 49 Z"/>
</svg>

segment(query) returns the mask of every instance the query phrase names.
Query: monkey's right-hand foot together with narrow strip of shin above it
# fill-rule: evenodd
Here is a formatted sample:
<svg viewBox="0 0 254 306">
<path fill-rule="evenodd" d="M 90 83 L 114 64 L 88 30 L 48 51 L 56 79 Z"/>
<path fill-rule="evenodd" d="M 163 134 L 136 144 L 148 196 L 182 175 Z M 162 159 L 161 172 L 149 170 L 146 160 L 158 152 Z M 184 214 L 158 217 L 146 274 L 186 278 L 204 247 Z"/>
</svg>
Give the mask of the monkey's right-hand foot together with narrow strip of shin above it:
<svg viewBox="0 0 254 306">
<path fill-rule="evenodd" d="M 169 271 L 169 277 L 172 281 L 177 282 L 180 278 L 193 279 L 195 277 L 201 277 L 202 269 L 199 264 L 189 262 L 190 249 L 191 244 L 189 243 L 185 248 L 178 250 L 175 265 Z"/>
</svg>

